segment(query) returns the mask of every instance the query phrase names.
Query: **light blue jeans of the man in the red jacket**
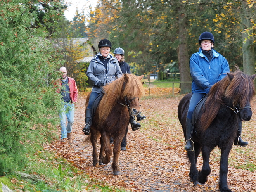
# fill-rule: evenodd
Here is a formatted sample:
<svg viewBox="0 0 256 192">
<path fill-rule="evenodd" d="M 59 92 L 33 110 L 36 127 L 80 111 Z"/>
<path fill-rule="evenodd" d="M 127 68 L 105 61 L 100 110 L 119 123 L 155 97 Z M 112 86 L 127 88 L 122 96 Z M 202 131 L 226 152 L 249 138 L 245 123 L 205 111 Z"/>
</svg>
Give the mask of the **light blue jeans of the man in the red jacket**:
<svg viewBox="0 0 256 192">
<path fill-rule="evenodd" d="M 64 103 L 64 107 L 62 108 L 59 116 L 61 120 L 61 139 L 67 138 L 67 133 L 71 133 L 72 125 L 74 123 L 74 104 Z"/>
</svg>

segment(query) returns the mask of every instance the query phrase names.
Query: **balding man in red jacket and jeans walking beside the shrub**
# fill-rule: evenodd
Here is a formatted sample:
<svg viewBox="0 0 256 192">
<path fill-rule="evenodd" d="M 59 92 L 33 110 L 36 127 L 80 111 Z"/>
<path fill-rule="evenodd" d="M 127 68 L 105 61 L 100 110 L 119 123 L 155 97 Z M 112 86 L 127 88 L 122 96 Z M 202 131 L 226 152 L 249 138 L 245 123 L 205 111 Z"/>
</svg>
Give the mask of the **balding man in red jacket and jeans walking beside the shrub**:
<svg viewBox="0 0 256 192">
<path fill-rule="evenodd" d="M 74 123 L 74 106 L 78 98 L 78 90 L 76 87 L 76 81 L 67 76 L 66 67 L 59 69 L 62 79 L 59 82 L 58 92 L 62 95 L 63 108 L 59 114 L 61 120 L 61 142 L 71 139 L 72 125 Z M 67 117 L 67 126 L 66 126 Z"/>
</svg>

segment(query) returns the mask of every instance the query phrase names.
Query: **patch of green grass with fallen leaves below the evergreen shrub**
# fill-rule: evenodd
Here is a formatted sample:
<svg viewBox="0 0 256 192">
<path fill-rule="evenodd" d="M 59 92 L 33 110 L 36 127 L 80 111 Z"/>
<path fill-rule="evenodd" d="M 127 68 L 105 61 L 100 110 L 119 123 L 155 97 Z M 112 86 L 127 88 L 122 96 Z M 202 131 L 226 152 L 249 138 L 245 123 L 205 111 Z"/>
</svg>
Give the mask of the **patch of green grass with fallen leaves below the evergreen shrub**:
<svg viewBox="0 0 256 192">
<path fill-rule="evenodd" d="M 16 171 L 38 175 L 42 179 L 41 181 L 25 179 L 17 172 L 5 176 L 5 180 L 9 181 L 5 183 L 9 183 L 8 187 L 16 192 L 81 192 L 95 189 L 102 192 L 126 191 L 90 178 L 84 171 L 79 170 L 66 159 L 45 150 L 31 155 L 27 166 L 23 170 L 17 169 Z"/>
</svg>

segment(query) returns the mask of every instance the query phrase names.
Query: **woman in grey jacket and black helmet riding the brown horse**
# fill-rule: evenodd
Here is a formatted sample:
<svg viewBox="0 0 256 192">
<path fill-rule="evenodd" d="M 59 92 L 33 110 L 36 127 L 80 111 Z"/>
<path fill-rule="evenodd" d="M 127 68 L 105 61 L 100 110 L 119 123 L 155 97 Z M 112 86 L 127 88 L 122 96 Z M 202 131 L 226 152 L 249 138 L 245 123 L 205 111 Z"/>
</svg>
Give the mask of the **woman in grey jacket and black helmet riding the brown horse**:
<svg viewBox="0 0 256 192">
<path fill-rule="evenodd" d="M 100 40 L 98 44 L 99 53 L 91 60 L 87 69 L 87 76 L 93 81 L 92 92 L 88 107 L 85 112 L 85 127 L 83 133 L 90 135 L 92 125 L 92 105 L 105 86 L 123 75 L 118 60 L 109 54 L 112 45 L 107 39 Z"/>
</svg>

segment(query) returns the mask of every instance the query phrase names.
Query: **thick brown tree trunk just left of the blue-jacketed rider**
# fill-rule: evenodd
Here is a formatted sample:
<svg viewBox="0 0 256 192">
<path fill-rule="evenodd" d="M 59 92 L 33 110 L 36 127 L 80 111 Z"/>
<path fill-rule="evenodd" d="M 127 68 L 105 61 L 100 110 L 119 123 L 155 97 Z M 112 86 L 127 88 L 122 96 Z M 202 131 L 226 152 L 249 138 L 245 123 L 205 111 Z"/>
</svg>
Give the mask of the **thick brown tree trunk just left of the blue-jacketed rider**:
<svg viewBox="0 0 256 192">
<path fill-rule="evenodd" d="M 183 8 L 184 9 L 184 8 Z M 178 62 L 179 62 L 179 69 L 180 69 L 180 81 L 181 82 L 190 82 L 190 68 L 189 68 L 189 53 L 187 48 L 187 29 L 186 23 L 187 18 L 185 14 L 183 14 L 184 10 L 182 8 L 178 8 L 179 14 L 179 21 L 178 21 L 178 38 L 179 38 L 179 45 L 178 45 Z M 191 83 L 181 83 L 180 84 L 180 93 L 185 94 L 191 92 Z"/>
</svg>

